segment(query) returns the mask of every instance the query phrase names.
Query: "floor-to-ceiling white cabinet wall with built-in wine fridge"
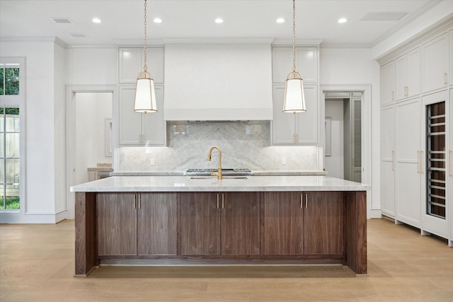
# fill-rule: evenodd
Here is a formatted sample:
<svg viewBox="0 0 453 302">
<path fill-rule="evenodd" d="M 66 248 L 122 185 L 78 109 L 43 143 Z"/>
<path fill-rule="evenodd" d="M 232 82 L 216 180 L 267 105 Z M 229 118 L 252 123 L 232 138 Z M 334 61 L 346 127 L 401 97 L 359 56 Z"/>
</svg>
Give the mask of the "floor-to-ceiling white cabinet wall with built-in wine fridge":
<svg viewBox="0 0 453 302">
<path fill-rule="evenodd" d="M 379 64 L 381 213 L 453 246 L 453 23 Z"/>
</svg>

